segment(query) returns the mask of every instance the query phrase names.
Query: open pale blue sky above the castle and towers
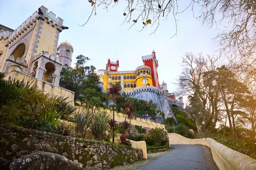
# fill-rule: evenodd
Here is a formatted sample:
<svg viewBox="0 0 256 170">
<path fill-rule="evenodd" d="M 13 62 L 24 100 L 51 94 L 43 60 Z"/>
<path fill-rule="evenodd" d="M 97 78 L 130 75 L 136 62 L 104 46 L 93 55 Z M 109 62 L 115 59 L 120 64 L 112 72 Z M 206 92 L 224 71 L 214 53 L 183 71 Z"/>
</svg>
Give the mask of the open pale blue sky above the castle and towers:
<svg viewBox="0 0 256 170">
<path fill-rule="evenodd" d="M 142 24 L 123 24 L 125 17 L 123 12 L 125 2 L 119 2 L 115 7 L 109 7 L 108 12 L 103 7 L 97 8 L 97 15 L 93 15 L 89 22 L 92 6 L 87 0 L 0 0 L 0 24 L 16 29 L 39 7 L 45 6 L 48 12 L 52 11 L 57 17 L 64 20 L 63 25 L 69 29 L 61 32 L 60 44 L 68 41 L 74 48 L 72 65 L 76 62 L 76 56 L 82 54 L 90 57 L 87 65 L 94 65 L 97 70 L 105 69 L 108 58 L 111 61 L 119 60 L 119 71 L 135 70 L 143 65 L 142 56 L 149 55 L 153 49 L 158 60 L 158 74 L 160 83 L 167 83 L 169 92 L 176 89 L 175 82 L 181 73 L 181 57 L 186 52 L 194 54 L 215 54 L 218 46 L 212 40 L 220 30 L 218 27 L 207 28 L 196 19 L 191 8 L 177 15 L 177 36 L 175 34 L 175 22 L 170 15 L 167 21 L 161 21 L 155 32 L 150 25 L 139 32 Z M 186 7 L 181 0 L 180 10 Z M 195 8 L 199 11 L 200 8 Z M 134 13 L 136 16 L 136 13 Z M 121 25 L 121 26 L 120 26 Z M 219 27 L 222 28 L 220 25 Z M 150 35 L 151 34 L 151 35 Z M 186 102 L 186 101 L 185 101 Z"/>
</svg>

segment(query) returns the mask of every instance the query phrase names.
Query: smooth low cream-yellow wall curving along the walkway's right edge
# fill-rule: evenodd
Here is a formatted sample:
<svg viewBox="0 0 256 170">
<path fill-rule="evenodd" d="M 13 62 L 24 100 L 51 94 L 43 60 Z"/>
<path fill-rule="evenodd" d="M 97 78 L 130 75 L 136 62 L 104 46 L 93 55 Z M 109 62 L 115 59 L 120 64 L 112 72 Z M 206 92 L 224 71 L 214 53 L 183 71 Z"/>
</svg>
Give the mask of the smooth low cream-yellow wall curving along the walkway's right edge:
<svg viewBox="0 0 256 170">
<path fill-rule="evenodd" d="M 256 159 L 232 150 L 213 139 L 187 139 L 176 133 L 168 133 L 168 137 L 169 144 L 201 144 L 209 147 L 219 170 L 256 170 Z"/>
</svg>

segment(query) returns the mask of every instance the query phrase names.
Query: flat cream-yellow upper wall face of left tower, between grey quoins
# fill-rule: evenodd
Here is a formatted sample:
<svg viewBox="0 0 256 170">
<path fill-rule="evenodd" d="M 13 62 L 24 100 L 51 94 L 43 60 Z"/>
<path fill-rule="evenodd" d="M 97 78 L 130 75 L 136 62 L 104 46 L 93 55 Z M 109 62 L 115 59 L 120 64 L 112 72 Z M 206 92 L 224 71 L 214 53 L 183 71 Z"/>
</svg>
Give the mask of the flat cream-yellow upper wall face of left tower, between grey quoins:
<svg viewBox="0 0 256 170">
<path fill-rule="evenodd" d="M 44 24 L 41 25 L 42 29 L 40 29 L 41 34 L 38 45 L 38 53 L 41 51 L 47 51 L 49 54 L 54 54 L 54 45 L 55 45 L 55 36 L 57 31 L 57 26 L 52 27 L 52 23 L 47 24 L 47 20 L 43 21 Z"/>
</svg>

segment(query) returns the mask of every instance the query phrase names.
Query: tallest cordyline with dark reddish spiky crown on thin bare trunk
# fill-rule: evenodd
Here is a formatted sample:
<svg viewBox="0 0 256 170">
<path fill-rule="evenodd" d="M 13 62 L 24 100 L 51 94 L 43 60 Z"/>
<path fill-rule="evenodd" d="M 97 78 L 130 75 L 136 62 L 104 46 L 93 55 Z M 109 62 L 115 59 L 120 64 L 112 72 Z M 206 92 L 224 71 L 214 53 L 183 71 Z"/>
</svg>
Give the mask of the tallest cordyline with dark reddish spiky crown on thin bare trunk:
<svg viewBox="0 0 256 170">
<path fill-rule="evenodd" d="M 115 121 L 115 99 L 117 97 L 119 97 L 120 91 L 122 90 L 122 87 L 120 85 L 111 85 L 110 88 L 108 88 L 107 94 L 108 94 L 108 98 L 113 100 L 113 121 Z M 114 134 L 114 130 L 112 132 L 112 142 L 115 142 L 115 134 Z"/>
</svg>

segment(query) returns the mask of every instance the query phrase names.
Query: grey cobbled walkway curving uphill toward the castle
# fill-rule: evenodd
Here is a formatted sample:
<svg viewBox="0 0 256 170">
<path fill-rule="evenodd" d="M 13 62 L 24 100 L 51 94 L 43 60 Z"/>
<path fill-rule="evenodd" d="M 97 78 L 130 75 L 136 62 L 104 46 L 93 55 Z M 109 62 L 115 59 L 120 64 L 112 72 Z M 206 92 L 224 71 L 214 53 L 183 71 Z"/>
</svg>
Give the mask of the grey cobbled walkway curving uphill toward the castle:
<svg viewBox="0 0 256 170">
<path fill-rule="evenodd" d="M 173 144 L 174 149 L 137 170 L 218 170 L 206 146 Z"/>
</svg>

